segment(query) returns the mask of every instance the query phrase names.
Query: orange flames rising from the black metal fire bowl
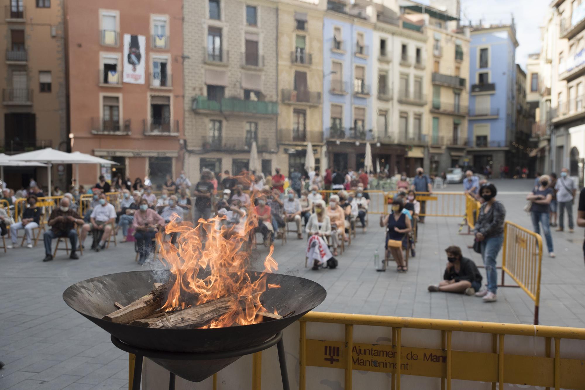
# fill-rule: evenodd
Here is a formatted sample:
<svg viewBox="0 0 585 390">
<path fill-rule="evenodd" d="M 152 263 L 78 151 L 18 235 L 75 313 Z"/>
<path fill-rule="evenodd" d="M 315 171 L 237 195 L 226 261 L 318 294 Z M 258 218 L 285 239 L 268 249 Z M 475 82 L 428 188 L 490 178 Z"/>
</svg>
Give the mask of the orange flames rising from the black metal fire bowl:
<svg viewBox="0 0 585 390">
<path fill-rule="evenodd" d="M 254 197 L 253 194 L 252 199 Z M 226 219 L 225 216 L 208 221 L 201 219 L 195 227 L 191 222 L 177 222 L 174 219 L 167 225 L 166 234 L 180 233 L 175 245 L 163 242 L 157 235 L 161 248 L 159 260 L 170 267 L 171 273 L 176 276 L 163 305 L 164 311 L 228 297 L 232 308 L 207 327 L 222 328 L 262 321 L 261 317 L 256 318 L 256 313 L 266 312 L 267 309 L 263 307 L 260 297 L 266 287 L 278 288 L 280 285 L 266 283 L 267 274 L 278 269 L 272 257 L 273 246 L 264 259 L 264 270 L 256 280 L 252 280 L 246 272 L 250 265 L 250 238 L 258 221 L 253 201 L 251 205 L 245 221 L 230 228 L 217 228 Z M 209 275 L 199 275 L 201 269 L 208 269 Z"/>
</svg>

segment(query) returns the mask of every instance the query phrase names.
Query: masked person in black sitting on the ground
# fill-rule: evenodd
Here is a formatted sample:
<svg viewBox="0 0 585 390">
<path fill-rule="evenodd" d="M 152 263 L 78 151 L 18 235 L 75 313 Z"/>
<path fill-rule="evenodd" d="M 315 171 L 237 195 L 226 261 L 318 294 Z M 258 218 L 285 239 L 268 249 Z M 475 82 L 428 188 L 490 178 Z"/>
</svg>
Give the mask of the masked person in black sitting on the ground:
<svg viewBox="0 0 585 390">
<path fill-rule="evenodd" d="M 431 292 L 444 291 L 445 293 L 459 293 L 473 295 L 481 288 L 481 274 L 473 260 L 463 257 L 459 246 L 449 246 L 447 252 L 447 267 L 443 274 L 443 281 L 429 285 Z"/>
</svg>

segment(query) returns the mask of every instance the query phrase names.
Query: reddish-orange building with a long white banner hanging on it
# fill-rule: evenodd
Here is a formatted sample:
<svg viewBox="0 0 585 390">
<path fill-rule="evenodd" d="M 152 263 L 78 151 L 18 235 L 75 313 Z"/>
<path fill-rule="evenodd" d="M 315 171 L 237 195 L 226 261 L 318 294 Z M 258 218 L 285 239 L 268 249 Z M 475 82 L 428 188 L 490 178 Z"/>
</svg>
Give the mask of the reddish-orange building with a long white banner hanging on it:
<svg viewBox="0 0 585 390">
<path fill-rule="evenodd" d="M 117 166 L 80 166 L 80 184 L 183 168 L 181 0 L 68 1 L 71 150 Z"/>
</svg>

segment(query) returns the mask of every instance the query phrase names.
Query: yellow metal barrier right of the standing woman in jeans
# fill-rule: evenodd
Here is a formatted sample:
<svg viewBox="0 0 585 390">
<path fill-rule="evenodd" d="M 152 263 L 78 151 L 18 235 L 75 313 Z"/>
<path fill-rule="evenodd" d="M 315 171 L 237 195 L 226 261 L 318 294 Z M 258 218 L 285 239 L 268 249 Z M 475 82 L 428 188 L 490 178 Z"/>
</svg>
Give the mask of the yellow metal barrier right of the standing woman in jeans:
<svg viewBox="0 0 585 390">
<path fill-rule="evenodd" d="M 505 274 L 534 301 L 534 325 L 538 325 L 541 297 L 542 238 L 510 221 L 504 222 L 502 284 Z"/>
</svg>

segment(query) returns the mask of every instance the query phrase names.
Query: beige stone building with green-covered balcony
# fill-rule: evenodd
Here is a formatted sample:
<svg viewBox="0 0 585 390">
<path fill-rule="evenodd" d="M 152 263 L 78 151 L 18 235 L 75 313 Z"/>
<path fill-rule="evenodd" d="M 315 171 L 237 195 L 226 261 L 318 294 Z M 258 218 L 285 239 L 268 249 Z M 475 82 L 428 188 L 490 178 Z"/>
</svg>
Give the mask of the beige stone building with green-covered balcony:
<svg viewBox="0 0 585 390">
<path fill-rule="evenodd" d="M 277 4 L 184 1 L 188 169 L 240 173 L 256 142 L 261 169 L 277 152 Z M 201 23 L 203 20 L 203 23 Z"/>
</svg>

